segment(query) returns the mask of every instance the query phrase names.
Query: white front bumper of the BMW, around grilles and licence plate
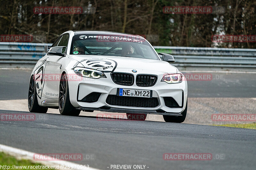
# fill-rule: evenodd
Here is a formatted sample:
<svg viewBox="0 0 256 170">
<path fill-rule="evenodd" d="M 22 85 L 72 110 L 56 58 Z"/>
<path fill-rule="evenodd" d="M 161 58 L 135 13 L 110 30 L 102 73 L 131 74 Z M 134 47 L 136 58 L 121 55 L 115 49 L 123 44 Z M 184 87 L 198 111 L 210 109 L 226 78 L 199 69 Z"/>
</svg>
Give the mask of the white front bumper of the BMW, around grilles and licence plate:
<svg viewBox="0 0 256 170">
<path fill-rule="evenodd" d="M 131 73 L 127 69 L 119 69 L 117 72 Z M 138 70 L 138 72 L 141 70 Z M 69 74 L 69 73 L 68 73 Z M 70 70 L 70 74 L 74 74 L 73 70 Z M 136 77 L 136 73 L 132 73 Z M 164 73 L 147 72 L 147 74 L 153 74 L 158 76 L 156 84 L 152 87 L 138 87 L 136 83 L 132 86 L 123 86 L 115 84 L 110 73 L 105 73 L 107 78 L 91 79 L 81 77 L 77 81 L 68 81 L 69 84 L 69 95 L 71 104 L 80 110 L 100 110 L 109 112 L 120 112 L 120 113 L 149 113 L 149 114 L 160 114 L 160 115 L 181 115 L 181 112 L 185 110 L 188 88 L 187 82 L 182 81 L 177 84 L 168 84 L 166 82 L 161 82 Z M 158 106 L 152 107 L 128 107 L 128 106 L 116 106 L 106 103 L 108 95 L 116 95 L 118 88 L 124 89 L 145 89 L 152 90 L 152 97 L 156 97 L 158 100 Z M 92 92 L 100 93 L 100 97 L 97 102 L 81 102 L 85 96 Z M 164 102 L 164 97 L 172 97 L 178 107 L 167 107 Z"/>
</svg>

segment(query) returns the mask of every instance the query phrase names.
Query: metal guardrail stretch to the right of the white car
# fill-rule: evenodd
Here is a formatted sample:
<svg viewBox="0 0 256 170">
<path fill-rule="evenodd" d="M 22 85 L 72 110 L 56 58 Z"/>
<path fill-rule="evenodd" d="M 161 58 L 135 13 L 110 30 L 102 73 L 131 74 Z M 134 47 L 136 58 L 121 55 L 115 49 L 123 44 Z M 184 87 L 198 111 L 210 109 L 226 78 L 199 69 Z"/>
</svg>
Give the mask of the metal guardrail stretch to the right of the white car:
<svg viewBox="0 0 256 170">
<path fill-rule="evenodd" d="M 172 65 L 185 70 L 256 71 L 256 49 L 154 46 L 172 54 Z"/>
</svg>

